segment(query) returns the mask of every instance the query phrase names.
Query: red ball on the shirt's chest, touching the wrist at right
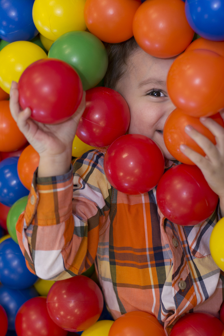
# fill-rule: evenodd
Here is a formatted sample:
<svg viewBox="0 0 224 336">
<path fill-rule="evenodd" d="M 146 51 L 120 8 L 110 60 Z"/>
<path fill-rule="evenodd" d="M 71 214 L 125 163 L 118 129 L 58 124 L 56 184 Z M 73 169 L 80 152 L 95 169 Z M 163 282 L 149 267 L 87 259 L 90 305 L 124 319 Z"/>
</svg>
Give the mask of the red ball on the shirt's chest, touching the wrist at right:
<svg viewBox="0 0 224 336">
<path fill-rule="evenodd" d="M 215 211 L 216 195 L 197 166 L 169 169 L 156 189 L 157 204 L 166 218 L 179 225 L 196 225 Z"/>
</svg>

